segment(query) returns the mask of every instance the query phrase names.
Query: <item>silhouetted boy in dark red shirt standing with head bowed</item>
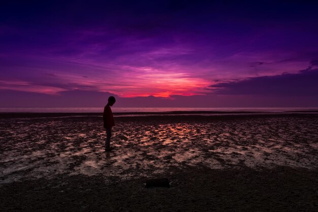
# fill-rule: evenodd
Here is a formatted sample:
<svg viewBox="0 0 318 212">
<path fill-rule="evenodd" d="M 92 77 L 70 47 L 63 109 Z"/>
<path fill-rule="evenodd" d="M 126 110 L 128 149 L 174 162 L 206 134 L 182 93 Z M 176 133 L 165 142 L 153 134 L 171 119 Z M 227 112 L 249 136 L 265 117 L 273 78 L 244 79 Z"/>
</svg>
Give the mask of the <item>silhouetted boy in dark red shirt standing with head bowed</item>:
<svg viewBox="0 0 318 212">
<path fill-rule="evenodd" d="M 104 128 L 106 129 L 106 142 L 105 142 L 105 151 L 110 151 L 113 148 L 110 147 L 110 137 L 112 136 L 112 127 L 115 126 L 114 117 L 110 106 L 113 106 L 116 102 L 115 97 L 109 97 L 108 103 L 104 108 L 103 119 L 104 119 Z"/>
</svg>

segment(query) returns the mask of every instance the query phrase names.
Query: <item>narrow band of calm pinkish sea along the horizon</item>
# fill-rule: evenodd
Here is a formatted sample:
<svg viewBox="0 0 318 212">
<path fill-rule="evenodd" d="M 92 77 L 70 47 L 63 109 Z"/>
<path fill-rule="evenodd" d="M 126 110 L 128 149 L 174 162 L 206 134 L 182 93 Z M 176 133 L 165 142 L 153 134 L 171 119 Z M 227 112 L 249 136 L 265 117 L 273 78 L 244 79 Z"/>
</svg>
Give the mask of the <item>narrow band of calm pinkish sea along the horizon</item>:
<svg viewBox="0 0 318 212">
<path fill-rule="evenodd" d="M 104 107 L 0 107 L 0 113 L 11 112 L 102 112 Z M 171 111 L 256 111 L 256 112 L 284 112 L 310 111 L 318 108 L 309 107 L 112 107 L 113 112 L 171 112 Z"/>
</svg>

